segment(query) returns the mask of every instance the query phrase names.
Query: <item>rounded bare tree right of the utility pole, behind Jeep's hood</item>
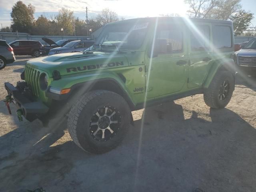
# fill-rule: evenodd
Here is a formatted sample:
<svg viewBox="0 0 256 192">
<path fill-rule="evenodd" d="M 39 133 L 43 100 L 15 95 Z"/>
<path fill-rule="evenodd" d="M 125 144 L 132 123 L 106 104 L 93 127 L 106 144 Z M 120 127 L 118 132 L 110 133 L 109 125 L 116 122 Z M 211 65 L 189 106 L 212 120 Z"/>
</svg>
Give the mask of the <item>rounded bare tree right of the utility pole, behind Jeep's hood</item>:
<svg viewBox="0 0 256 192">
<path fill-rule="evenodd" d="M 109 8 L 103 9 L 100 14 L 97 15 L 96 20 L 101 25 L 105 25 L 110 22 L 118 21 L 118 15 L 116 12 L 110 10 Z"/>
</svg>

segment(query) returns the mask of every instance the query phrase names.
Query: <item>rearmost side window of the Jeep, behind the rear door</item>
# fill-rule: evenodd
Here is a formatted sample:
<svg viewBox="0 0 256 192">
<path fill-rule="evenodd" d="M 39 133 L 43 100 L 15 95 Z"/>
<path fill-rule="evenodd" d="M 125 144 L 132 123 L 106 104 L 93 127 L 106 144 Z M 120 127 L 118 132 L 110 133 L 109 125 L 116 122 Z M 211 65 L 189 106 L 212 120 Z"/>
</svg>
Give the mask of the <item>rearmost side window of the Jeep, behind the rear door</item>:
<svg viewBox="0 0 256 192">
<path fill-rule="evenodd" d="M 231 28 L 229 26 L 214 26 L 213 27 L 213 44 L 215 48 L 230 48 Z"/>
</svg>

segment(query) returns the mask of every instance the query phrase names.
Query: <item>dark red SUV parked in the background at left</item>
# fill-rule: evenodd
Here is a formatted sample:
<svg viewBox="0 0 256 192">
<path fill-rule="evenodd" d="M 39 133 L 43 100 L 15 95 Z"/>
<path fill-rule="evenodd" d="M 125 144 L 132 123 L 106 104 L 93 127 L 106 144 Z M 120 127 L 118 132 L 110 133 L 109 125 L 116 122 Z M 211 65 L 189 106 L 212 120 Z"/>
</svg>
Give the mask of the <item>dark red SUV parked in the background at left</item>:
<svg viewBox="0 0 256 192">
<path fill-rule="evenodd" d="M 39 57 L 39 48 L 43 45 L 39 41 L 33 40 L 16 40 L 10 42 L 9 45 L 13 48 L 15 55 L 32 55 Z"/>
</svg>

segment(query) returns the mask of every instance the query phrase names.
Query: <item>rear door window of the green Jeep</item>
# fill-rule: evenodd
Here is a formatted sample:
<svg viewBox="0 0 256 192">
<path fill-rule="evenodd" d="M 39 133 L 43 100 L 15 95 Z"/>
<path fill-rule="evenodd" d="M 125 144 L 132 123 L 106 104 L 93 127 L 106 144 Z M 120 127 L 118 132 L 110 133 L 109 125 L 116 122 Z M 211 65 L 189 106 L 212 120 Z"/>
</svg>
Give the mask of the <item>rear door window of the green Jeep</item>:
<svg viewBox="0 0 256 192">
<path fill-rule="evenodd" d="M 190 31 L 190 41 L 192 51 L 209 50 L 210 27 L 208 25 L 196 26 L 196 30 Z"/>
</svg>

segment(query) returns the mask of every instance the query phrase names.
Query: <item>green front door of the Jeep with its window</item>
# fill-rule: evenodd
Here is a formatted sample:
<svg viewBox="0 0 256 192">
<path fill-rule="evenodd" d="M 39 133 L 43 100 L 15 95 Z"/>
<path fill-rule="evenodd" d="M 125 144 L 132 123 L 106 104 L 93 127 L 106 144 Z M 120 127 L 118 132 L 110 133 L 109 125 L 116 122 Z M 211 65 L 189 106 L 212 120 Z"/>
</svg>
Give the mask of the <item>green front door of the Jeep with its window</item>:
<svg viewBox="0 0 256 192">
<path fill-rule="evenodd" d="M 153 98 L 178 92 L 187 79 L 188 54 L 184 26 L 158 23 L 156 41 L 166 42 L 166 53 L 152 58 L 146 56 L 146 97 Z"/>
</svg>

